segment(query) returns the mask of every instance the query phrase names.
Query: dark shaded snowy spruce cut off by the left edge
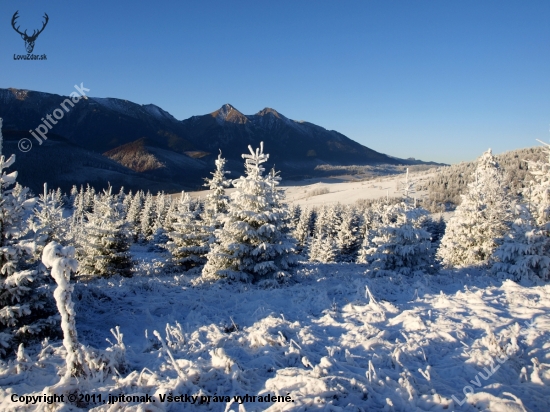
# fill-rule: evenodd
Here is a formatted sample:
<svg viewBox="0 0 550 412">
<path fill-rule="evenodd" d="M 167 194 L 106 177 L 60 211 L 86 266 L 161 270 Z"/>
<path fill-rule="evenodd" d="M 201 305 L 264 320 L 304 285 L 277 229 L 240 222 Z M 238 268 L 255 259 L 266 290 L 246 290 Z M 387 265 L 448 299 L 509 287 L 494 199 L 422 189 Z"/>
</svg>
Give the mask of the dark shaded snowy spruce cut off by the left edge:
<svg viewBox="0 0 550 412">
<path fill-rule="evenodd" d="M 56 329 L 57 318 L 44 278 L 32 266 L 23 238 L 28 189 L 15 184 L 17 172 L 5 169 L 15 162 L 2 155 L 0 119 L 0 355 L 10 355 L 20 344 Z"/>
</svg>

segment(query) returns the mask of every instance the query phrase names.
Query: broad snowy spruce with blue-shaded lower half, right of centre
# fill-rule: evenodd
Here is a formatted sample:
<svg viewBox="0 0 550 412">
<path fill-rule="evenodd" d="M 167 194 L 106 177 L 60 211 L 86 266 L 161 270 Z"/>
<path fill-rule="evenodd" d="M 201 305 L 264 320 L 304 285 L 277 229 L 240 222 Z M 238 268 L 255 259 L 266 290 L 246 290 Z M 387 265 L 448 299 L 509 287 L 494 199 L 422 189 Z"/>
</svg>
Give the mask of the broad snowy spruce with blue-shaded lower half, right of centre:
<svg viewBox="0 0 550 412">
<path fill-rule="evenodd" d="M 369 263 L 376 275 L 430 271 L 434 256 L 431 236 L 425 229 L 428 215 L 428 211 L 405 202 L 386 205 L 382 222 L 371 233 L 371 245 L 362 251 L 360 261 Z"/>
</svg>

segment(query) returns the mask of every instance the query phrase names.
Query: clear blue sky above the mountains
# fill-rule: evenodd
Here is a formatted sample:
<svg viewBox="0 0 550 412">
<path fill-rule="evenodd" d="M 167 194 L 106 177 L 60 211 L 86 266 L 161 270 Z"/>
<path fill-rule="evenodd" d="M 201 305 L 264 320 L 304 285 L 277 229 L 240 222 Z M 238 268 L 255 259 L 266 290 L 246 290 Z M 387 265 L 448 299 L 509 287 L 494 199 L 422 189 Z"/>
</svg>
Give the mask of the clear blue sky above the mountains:
<svg viewBox="0 0 550 412">
<path fill-rule="evenodd" d="M 14 61 L 22 28 L 48 27 Z M 0 3 L 0 87 L 272 107 L 380 152 L 455 163 L 550 140 L 550 1 Z M 267 148 L 269 149 L 269 148 Z"/>
</svg>

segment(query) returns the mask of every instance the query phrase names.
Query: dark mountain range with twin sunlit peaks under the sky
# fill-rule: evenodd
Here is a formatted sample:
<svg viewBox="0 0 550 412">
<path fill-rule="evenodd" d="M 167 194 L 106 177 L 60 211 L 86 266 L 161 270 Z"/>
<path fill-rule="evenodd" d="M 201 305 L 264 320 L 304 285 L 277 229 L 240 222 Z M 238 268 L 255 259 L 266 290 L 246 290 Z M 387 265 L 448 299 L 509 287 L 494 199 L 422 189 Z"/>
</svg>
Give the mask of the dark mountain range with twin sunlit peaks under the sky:
<svg viewBox="0 0 550 412">
<path fill-rule="evenodd" d="M 30 134 L 66 96 L 0 89 L 4 153 L 17 153 L 18 181 L 35 192 L 47 181 L 67 191 L 73 184 L 152 192 L 196 190 L 210 176 L 219 152 L 231 177 L 243 171 L 242 153 L 264 142 L 285 179 L 317 176 L 330 165 L 425 164 L 365 147 L 341 133 L 291 120 L 265 108 L 244 115 L 230 104 L 205 115 L 177 120 L 158 106 L 115 98 L 83 98 L 52 126 L 41 144 Z M 18 149 L 28 138 L 33 147 Z M 433 163 L 436 164 L 436 163 Z"/>
</svg>

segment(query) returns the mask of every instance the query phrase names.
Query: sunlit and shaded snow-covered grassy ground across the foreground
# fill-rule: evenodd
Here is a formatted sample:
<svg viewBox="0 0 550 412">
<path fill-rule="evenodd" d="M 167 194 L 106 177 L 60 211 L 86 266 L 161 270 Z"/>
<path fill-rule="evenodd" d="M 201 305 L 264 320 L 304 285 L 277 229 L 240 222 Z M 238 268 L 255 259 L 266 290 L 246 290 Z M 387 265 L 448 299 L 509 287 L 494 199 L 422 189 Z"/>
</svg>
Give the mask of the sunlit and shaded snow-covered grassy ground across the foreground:
<svg viewBox="0 0 550 412">
<path fill-rule="evenodd" d="M 82 409 L 550 410 L 550 285 L 473 270 L 369 278 L 364 265 L 310 263 L 276 288 L 200 285 L 189 273 L 155 274 L 157 253 L 133 253 L 142 273 L 75 287 L 80 341 L 105 349 L 120 326 L 129 364 L 82 382 L 96 395 Z M 0 410 L 46 409 L 12 395 L 43 394 L 65 355 L 56 341 L 0 363 Z M 104 404 L 109 394 L 152 401 Z"/>
</svg>

